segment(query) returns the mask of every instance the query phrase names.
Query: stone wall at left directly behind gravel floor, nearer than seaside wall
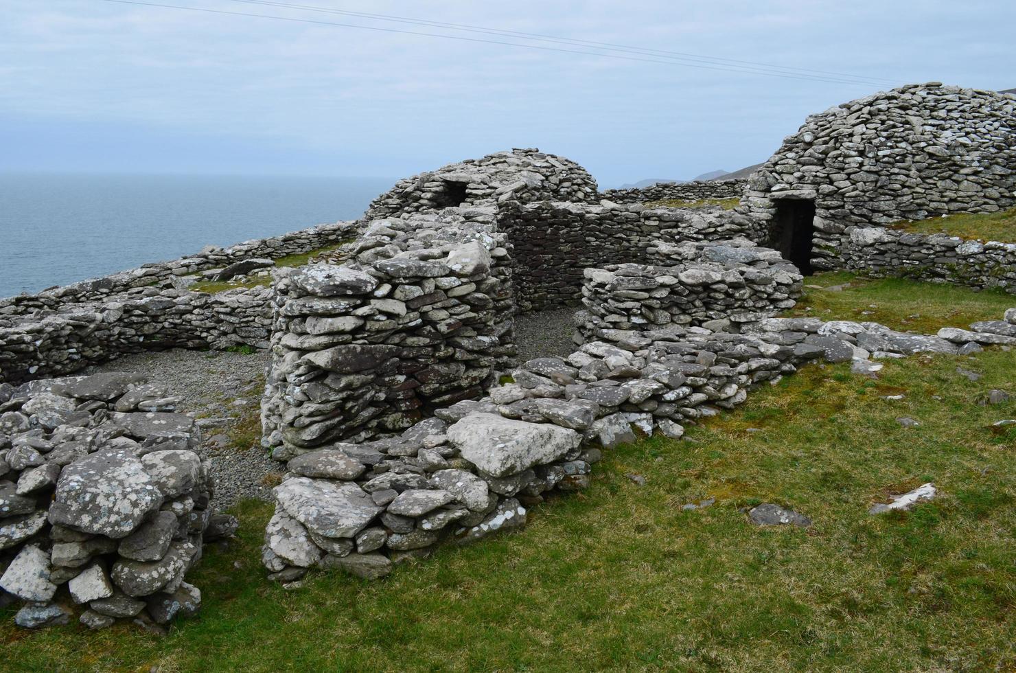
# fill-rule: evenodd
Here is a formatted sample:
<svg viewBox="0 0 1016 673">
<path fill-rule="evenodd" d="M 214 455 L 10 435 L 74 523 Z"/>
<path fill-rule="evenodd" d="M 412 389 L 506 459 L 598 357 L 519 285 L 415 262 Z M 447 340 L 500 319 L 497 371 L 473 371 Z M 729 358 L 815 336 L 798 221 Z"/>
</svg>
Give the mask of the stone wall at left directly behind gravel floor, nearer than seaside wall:
<svg viewBox="0 0 1016 673">
<path fill-rule="evenodd" d="M 217 294 L 143 288 L 87 308 L 0 324 L 0 382 L 76 372 L 169 348 L 267 348 L 269 288 Z"/>
</svg>

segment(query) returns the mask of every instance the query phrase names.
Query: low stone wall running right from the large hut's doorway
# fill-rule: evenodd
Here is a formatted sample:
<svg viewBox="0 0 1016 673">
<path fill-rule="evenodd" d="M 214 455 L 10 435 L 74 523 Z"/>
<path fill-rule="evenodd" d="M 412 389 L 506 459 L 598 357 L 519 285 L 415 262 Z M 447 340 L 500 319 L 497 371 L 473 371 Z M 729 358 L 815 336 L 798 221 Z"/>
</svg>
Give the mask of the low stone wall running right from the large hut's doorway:
<svg viewBox="0 0 1016 673">
<path fill-rule="evenodd" d="M 815 251 L 815 266 L 874 277 L 906 277 L 1016 294 L 1016 243 L 849 227 L 830 248 Z"/>
</svg>

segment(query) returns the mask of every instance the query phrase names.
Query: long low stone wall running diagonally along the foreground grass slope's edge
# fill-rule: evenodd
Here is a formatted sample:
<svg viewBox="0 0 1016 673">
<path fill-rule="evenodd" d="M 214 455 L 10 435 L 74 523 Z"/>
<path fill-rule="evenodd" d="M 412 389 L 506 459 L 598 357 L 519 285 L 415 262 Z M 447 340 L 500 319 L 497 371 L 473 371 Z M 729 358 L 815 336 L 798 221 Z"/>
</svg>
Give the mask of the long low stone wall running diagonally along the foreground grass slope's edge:
<svg viewBox="0 0 1016 673">
<path fill-rule="evenodd" d="M 767 318 L 743 323 L 742 333 L 612 330 L 613 343 L 526 362 L 512 382 L 437 410 L 400 436 L 293 457 L 274 490 L 262 561 L 281 582 L 312 567 L 381 577 L 439 544 L 521 528 L 526 507 L 588 486 L 601 449 L 637 431 L 680 437 L 683 423 L 733 409 L 813 360 L 870 374 L 882 358 L 1014 345 L 1016 309 L 971 327 L 930 336 L 873 322 Z"/>
</svg>

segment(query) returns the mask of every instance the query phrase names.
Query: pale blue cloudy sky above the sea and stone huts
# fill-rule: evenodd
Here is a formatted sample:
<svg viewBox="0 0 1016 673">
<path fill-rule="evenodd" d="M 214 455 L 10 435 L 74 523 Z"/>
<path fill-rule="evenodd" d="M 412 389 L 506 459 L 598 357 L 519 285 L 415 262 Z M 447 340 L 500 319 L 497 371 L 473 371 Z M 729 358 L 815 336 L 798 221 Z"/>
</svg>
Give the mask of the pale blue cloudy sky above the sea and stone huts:
<svg viewBox="0 0 1016 673">
<path fill-rule="evenodd" d="M 1014 23 L 1008 0 L 2 0 L 0 170 L 394 178 L 538 146 L 608 187 L 690 178 L 896 84 L 1016 86 Z"/>
</svg>

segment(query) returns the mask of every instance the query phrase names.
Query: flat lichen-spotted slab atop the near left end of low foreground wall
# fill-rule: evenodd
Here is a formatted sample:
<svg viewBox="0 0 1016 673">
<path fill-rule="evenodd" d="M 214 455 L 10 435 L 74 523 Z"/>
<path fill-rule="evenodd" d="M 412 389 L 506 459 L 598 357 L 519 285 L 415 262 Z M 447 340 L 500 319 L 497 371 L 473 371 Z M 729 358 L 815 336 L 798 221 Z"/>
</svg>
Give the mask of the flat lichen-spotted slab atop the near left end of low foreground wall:
<svg viewBox="0 0 1016 673">
<path fill-rule="evenodd" d="M 384 510 L 350 482 L 296 477 L 276 486 L 274 493 L 291 516 L 325 538 L 352 538 Z"/>
</svg>

